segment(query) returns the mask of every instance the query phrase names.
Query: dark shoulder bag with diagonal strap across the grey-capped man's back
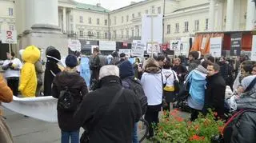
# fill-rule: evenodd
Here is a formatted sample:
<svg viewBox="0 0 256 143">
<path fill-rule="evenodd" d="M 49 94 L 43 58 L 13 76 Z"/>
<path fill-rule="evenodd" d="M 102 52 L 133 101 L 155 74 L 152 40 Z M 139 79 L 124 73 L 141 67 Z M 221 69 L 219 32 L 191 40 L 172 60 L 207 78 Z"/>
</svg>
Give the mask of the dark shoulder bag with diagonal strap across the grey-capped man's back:
<svg viewBox="0 0 256 143">
<path fill-rule="evenodd" d="M 114 108 L 114 105 L 115 105 L 115 103 L 118 101 L 119 97 L 121 97 L 122 92 L 123 92 L 123 89 L 120 89 L 120 90 L 118 91 L 118 93 L 115 94 L 113 100 L 112 100 L 111 103 L 110 103 L 109 108 L 106 110 L 105 113 L 102 114 L 102 117 L 100 117 L 102 120 L 101 120 L 101 121 L 98 121 L 98 123 L 96 123 L 96 124 L 94 125 L 94 127 L 96 127 L 97 125 L 101 125 L 101 124 L 102 124 L 102 121 L 103 121 L 104 117 L 106 116 L 107 113 L 110 112 L 111 109 Z M 80 142 L 81 142 L 81 143 L 88 143 L 89 141 L 90 141 L 90 133 L 89 133 L 89 130 L 88 130 L 88 129 L 85 129 L 85 131 L 82 133 L 82 136 L 80 137 Z"/>
</svg>

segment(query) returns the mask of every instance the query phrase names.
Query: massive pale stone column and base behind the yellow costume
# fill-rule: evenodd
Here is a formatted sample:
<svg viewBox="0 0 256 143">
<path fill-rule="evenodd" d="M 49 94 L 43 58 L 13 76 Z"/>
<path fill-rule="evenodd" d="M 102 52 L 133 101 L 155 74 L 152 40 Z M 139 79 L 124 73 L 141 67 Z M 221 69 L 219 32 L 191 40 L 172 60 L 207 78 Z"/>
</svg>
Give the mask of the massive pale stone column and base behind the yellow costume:
<svg viewBox="0 0 256 143">
<path fill-rule="evenodd" d="M 19 40 L 19 49 L 34 45 L 43 50 L 42 59 L 46 60 L 45 50 L 54 46 L 62 56 L 67 55 L 67 38 L 58 26 L 58 0 L 19 0 L 25 2 L 25 30 Z M 18 15 L 19 16 L 19 15 Z"/>
</svg>

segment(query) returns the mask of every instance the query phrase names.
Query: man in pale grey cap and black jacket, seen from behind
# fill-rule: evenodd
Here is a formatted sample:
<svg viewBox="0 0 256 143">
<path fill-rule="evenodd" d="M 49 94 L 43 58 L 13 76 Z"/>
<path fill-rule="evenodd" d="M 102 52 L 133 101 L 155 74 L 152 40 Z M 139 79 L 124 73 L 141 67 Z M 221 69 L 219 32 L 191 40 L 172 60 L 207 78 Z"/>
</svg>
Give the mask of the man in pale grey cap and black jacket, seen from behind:
<svg viewBox="0 0 256 143">
<path fill-rule="evenodd" d="M 142 115 L 135 93 L 122 89 L 118 66 L 102 66 L 99 87 L 83 98 L 75 120 L 86 130 L 80 141 L 132 142 L 134 123 Z"/>
</svg>

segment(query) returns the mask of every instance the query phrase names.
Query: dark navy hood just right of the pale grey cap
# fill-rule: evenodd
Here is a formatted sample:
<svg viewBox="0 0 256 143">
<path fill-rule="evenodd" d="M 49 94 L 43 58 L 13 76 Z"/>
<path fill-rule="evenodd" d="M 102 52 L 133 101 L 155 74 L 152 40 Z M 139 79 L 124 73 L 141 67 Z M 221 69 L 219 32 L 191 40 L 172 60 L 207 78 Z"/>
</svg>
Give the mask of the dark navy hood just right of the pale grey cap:
<svg viewBox="0 0 256 143">
<path fill-rule="evenodd" d="M 129 61 L 122 62 L 118 67 L 121 79 L 134 76 L 134 66 Z"/>
</svg>

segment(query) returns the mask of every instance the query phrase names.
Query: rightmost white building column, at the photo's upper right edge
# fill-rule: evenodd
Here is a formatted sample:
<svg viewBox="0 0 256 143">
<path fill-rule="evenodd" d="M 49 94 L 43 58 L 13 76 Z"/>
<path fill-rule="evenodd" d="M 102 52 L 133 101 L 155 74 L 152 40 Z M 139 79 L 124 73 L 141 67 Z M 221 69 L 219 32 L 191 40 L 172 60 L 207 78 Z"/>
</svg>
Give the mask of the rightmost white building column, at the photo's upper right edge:
<svg viewBox="0 0 256 143">
<path fill-rule="evenodd" d="M 255 22 L 255 3 L 247 0 L 246 30 L 253 30 Z"/>
</svg>

